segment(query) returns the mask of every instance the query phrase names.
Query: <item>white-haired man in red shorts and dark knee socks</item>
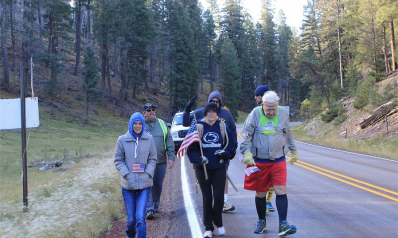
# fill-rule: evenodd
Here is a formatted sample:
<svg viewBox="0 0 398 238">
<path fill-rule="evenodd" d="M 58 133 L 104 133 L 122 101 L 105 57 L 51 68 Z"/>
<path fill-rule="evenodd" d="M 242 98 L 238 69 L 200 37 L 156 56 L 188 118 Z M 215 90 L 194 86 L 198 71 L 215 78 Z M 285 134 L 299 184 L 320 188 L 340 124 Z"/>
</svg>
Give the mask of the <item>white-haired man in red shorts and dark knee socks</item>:
<svg viewBox="0 0 398 238">
<path fill-rule="evenodd" d="M 247 167 L 257 166 L 260 170 L 245 175 L 244 189 L 256 191 L 257 226 L 253 233 L 263 233 L 266 228 L 267 191 L 271 184 L 276 194 L 279 216 L 278 236 L 295 234 L 297 228 L 290 225 L 288 197 L 286 189 L 286 158 L 290 151 L 291 163 L 297 161 L 298 154 L 289 126 L 289 115 L 285 108 L 278 106 L 279 97 L 274 91 L 267 91 L 261 107 L 255 107 L 245 120 L 242 128 L 243 141 L 240 153 Z"/>
</svg>

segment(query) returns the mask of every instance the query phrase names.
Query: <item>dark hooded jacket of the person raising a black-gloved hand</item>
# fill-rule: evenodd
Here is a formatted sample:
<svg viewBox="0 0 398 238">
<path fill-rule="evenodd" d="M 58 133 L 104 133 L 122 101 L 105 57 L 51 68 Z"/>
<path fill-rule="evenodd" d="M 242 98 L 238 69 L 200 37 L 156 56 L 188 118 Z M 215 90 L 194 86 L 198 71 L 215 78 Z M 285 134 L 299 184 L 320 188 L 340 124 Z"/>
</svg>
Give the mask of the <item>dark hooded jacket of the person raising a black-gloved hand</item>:
<svg viewBox="0 0 398 238">
<path fill-rule="evenodd" d="M 235 143 L 235 149 L 238 146 L 238 134 L 236 133 L 236 125 L 233 120 L 232 114 L 229 110 L 222 108 L 222 99 L 219 91 L 212 91 L 207 98 L 207 103 L 210 102 L 212 98 L 217 98 L 220 101 L 220 111 L 218 112 L 218 120 L 223 121 L 225 125 L 228 126 L 229 130 L 232 132 L 233 141 Z M 183 113 L 183 126 L 191 126 L 192 120 L 194 120 L 194 114 L 196 116 L 197 121 L 204 118 L 204 108 L 198 108 L 193 113 L 188 113 L 184 111 Z"/>
</svg>

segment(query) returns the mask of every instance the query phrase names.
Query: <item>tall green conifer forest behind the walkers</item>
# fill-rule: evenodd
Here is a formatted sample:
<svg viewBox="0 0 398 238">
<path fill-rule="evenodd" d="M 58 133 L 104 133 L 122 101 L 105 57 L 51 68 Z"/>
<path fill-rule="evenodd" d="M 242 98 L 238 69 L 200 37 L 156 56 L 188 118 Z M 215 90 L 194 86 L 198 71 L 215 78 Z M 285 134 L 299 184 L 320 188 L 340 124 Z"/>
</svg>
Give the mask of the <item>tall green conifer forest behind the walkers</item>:
<svg viewBox="0 0 398 238">
<path fill-rule="evenodd" d="M 1 0 L 1 90 L 13 89 L 12 72 L 28 85 L 32 59 L 49 97 L 73 64 L 85 100 L 111 101 L 120 116 L 142 88 L 165 89 L 172 115 L 203 82 L 234 117 L 261 84 L 312 115 L 348 95 L 372 103 L 369 91 L 397 71 L 397 0 L 307 0 L 300 29 L 272 2 L 254 22 L 240 0 Z"/>
</svg>

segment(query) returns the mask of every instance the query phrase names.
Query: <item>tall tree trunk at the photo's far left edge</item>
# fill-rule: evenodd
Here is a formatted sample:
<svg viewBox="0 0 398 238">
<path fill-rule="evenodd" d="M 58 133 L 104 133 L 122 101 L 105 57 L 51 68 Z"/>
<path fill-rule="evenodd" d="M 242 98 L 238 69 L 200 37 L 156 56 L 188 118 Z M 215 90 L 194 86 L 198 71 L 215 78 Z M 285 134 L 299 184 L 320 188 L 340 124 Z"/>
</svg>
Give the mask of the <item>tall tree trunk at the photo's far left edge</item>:
<svg viewBox="0 0 398 238">
<path fill-rule="evenodd" d="M 1 0 L 1 58 L 3 60 L 3 74 L 1 79 L 1 86 L 4 90 L 9 89 L 9 76 L 8 76 L 8 57 L 7 57 L 7 8 L 5 0 Z"/>
</svg>

